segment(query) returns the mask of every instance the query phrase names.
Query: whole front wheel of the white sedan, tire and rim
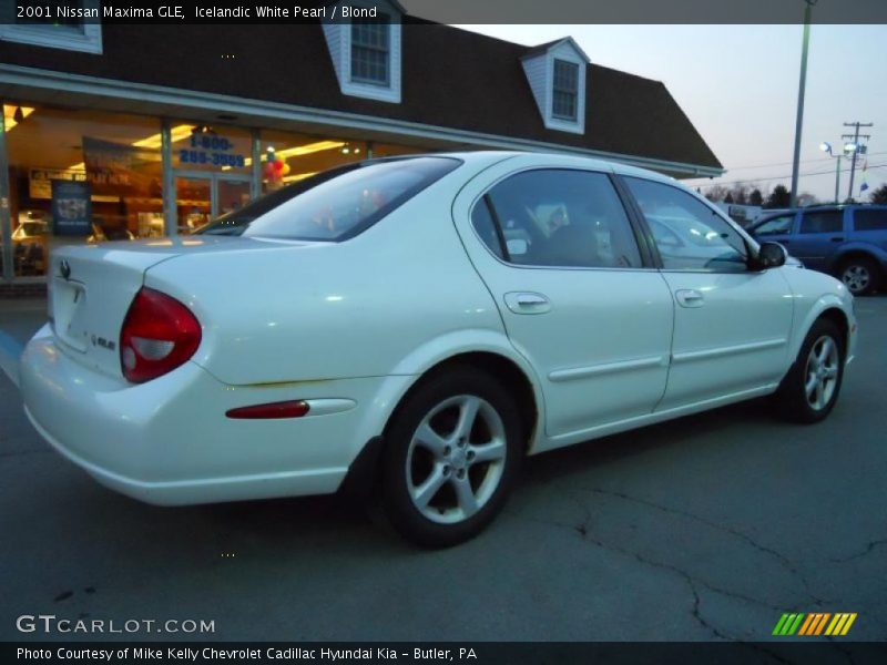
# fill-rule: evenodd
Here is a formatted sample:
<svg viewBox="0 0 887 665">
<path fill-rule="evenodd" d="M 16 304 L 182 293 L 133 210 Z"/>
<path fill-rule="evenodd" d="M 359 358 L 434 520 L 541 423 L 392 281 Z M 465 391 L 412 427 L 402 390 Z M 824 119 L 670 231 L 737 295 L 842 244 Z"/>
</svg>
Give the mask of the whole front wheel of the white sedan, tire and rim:
<svg viewBox="0 0 887 665">
<path fill-rule="evenodd" d="M 844 336 L 833 321 L 818 319 L 813 325 L 775 395 L 783 417 L 810 424 L 832 412 L 844 379 Z"/>
</svg>

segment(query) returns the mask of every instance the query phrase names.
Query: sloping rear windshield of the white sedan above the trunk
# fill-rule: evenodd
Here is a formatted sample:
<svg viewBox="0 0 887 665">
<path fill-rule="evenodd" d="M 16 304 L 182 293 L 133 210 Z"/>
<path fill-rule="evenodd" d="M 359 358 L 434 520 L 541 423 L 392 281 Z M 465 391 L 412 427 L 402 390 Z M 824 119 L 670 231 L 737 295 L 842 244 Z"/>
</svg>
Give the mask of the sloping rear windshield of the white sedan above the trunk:
<svg viewBox="0 0 887 665">
<path fill-rule="evenodd" d="M 341 242 L 369 228 L 461 164 L 452 157 L 359 162 L 272 192 L 197 233 Z"/>
</svg>

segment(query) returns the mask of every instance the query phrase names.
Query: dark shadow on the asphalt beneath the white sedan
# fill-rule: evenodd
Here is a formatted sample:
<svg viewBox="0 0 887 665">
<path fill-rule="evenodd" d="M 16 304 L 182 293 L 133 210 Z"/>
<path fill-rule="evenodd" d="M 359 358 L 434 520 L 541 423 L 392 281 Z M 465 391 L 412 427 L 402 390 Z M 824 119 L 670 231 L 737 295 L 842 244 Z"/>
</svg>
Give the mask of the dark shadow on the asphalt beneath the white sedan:
<svg viewBox="0 0 887 665">
<path fill-rule="evenodd" d="M 523 484 L 568 482 L 654 449 L 683 447 L 690 456 L 694 442 L 710 442 L 713 432 L 745 427 L 750 420 L 766 426 L 775 418 L 763 400 L 753 400 L 603 437 L 528 458 Z M 520 491 L 519 485 L 517 492 Z M 376 554 L 416 551 L 391 538 L 390 528 L 370 509 L 371 503 L 367 498 L 333 494 L 180 508 L 156 508 L 126 500 L 125 509 L 120 507 L 119 510 L 130 513 L 128 520 L 150 522 L 153 533 L 156 534 L 156 530 L 169 532 L 177 542 L 181 542 L 179 532 L 185 531 L 192 534 L 188 540 L 198 549 L 203 546 L 201 542 L 217 543 L 223 559 L 227 549 L 235 555 L 237 550 L 241 555 L 254 556 L 268 550 L 283 552 L 294 548 L 326 555 L 355 549 L 371 549 Z M 120 523 L 120 519 L 123 515 L 114 521 Z"/>
</svg>

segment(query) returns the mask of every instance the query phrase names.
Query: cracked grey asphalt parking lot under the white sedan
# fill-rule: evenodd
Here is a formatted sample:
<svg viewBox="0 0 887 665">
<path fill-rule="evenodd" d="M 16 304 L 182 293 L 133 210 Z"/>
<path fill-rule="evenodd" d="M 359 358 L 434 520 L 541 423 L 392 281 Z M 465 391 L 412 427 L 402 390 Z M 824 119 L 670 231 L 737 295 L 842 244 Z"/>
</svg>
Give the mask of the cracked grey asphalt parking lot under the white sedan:
<svg viewBox="0 0 887 665">
<path fill-rule="evenodd" d="M 42 307 L 0 300 L 6 348 Z M 0 640 L 90 638 L 19 633 L 22 614 L 214 621 L 149 640 L 767 640 L 784 612 L 855 612 L 853 638 L 887 640 L 887 297 L 857 313 L 824 423 L 752 402 L 533 458 L 486 533 L 436 552 L 336 497 L 116 495 L 49 450 L 0 374 Z"/>
</svg>

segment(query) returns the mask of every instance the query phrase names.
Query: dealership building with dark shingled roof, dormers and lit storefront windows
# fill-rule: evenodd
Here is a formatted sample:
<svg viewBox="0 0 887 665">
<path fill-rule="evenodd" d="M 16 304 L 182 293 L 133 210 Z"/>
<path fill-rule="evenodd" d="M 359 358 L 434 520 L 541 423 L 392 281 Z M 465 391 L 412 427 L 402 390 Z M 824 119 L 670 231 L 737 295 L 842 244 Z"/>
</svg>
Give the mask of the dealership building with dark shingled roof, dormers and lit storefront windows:
<svg viewBox="0 0 887 665">
<path fill-rule="evenodd" d="M 58 244 L 185 235 L 371 156 L 723 173 L 661 82 L 594 64 L 569 35 L 526 47 L 384 4 L 369 21 L 248 27 L 0 16 L 0 291 L 41 288 Z"/>
</svg>

